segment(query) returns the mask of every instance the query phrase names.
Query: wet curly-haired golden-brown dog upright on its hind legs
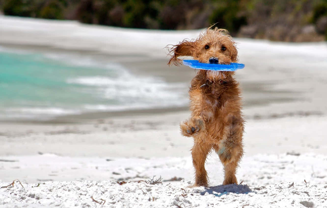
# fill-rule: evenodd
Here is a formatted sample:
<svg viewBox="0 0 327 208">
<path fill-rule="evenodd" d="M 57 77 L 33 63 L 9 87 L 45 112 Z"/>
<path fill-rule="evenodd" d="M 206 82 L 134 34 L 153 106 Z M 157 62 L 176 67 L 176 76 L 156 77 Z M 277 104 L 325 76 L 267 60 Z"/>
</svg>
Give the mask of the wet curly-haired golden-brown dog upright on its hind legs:
<svg viewBox="0 0 327 208">
<path fill-rule="evenodd" d="M 181 64 L 179 56 L 193 56 L 200 63 L 230 64 L 237 62 L 237 50 L 232 37 L 224 29 L 211 29 L 197 39 L 183 40 L 172 47 L 168 65 Z M 204 163 L 212 149 L 224 165 L 223 185 L 237 184 L 238 162 L 243 156 L 244 120 L 238 82 L 231 71 L 199 70 L 189 90 L 191 117 L 181 122 L 181 133 L 194 138 L 192 148 L 195 186 L 208 186 Z"/>
</svg>

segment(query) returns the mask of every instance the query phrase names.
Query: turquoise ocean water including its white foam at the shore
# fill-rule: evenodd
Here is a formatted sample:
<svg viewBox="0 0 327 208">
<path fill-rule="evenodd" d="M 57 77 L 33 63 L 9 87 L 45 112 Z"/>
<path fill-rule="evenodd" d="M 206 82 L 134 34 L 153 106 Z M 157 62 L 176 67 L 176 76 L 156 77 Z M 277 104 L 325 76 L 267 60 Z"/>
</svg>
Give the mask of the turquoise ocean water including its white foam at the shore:
<svg viewBox="0 0 327 208">
<path fill-rule="evenodd" d="M 0 120 L 183 106 L 181 83 L 139 77 L 117 63 L 56 53 L 0 51 Z"/>
</svg>

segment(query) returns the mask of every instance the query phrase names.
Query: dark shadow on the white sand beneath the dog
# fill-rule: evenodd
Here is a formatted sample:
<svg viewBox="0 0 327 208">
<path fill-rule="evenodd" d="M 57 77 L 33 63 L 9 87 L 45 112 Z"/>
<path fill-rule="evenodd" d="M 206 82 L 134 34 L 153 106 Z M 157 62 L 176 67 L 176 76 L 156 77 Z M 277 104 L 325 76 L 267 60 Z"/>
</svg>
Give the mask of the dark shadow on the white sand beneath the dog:
<svg viewBox="0 0 327 208">
<path fill-rule="evenodd" d="M 248 194 L 249 192 L 252 192 L 250 187 L 248 185 L 236 185 L 236 184 L 229 184 L 229 185 L 219 185 L 219 186 L 211 186 L 209 188 L 206 188 L 204 191 L 200 192 L 201 195 L 204 195 L 206 192 L 209 194 L 213 194 L 217 197 L 221 197 L 222 195 L 229 193 L 235 193 L 235 194 Z"/>
</svg>

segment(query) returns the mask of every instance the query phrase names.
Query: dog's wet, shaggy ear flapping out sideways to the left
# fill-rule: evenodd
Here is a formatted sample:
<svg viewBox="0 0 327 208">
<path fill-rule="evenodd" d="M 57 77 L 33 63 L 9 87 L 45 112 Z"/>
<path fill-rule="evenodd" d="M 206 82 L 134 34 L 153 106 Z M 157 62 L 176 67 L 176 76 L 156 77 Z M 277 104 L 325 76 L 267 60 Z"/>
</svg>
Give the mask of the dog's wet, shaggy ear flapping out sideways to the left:
<svg viewBox="0 0 327 208">
<path fill-rule="evenodd" d="M 179 56 L 192 56 L 196 43 L 192 41 L 183 40 L 177 45 L 166 46 L 169 51 L 171 58 L 169 59 L 168 65 L 174 64 L 176 66 L 181 65 L 182 60 L 177 58 Z"/>
</svg>

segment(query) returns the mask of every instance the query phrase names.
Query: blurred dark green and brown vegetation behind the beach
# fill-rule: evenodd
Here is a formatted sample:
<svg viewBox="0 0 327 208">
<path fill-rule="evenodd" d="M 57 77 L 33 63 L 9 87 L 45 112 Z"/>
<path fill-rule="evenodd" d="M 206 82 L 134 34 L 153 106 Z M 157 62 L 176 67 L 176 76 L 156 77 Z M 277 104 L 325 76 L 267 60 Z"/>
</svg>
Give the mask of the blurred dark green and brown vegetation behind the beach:
<svg viewBox="0 0 327 208">
<path fill-rule="evenodd" d="M 119 27 L 199 29 L 216 23 L 240 37 L 327 37 L 327 0 L 0 0 L 0 9 L 5 15 Z"/>
</svg>

